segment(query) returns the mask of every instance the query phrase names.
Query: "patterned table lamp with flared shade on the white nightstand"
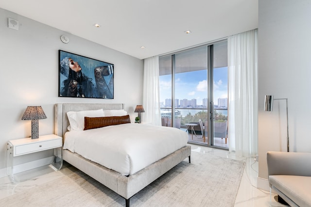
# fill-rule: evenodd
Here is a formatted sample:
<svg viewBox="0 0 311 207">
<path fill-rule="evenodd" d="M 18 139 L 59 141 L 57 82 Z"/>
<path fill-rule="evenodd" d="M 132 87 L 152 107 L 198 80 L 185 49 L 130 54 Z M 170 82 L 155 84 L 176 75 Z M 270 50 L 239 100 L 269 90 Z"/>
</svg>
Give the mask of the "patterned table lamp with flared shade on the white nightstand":
<svg viewBox="0 0 311 207">
<path fill-rule="evenodd" d="M 31 120 L 31 139 L 39 138 L 39 119 L 46 119 L 41 106 L 28 106 L 21 120 Z"/>
</svg>

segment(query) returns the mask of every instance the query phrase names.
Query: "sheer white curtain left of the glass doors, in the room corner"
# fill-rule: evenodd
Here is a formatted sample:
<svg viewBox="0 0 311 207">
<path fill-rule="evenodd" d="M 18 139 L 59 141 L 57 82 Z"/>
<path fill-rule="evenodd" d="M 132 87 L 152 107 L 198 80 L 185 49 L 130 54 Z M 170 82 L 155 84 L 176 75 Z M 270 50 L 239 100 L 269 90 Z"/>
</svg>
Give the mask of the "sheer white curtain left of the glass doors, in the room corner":
<svg viewBox="0 0 311 207">
<path fill-rule="evenodd" d="M 143 119 L 153 125 L 161 125 L 159 92 L 159 56 L 144 60 Z"/>
</svg>

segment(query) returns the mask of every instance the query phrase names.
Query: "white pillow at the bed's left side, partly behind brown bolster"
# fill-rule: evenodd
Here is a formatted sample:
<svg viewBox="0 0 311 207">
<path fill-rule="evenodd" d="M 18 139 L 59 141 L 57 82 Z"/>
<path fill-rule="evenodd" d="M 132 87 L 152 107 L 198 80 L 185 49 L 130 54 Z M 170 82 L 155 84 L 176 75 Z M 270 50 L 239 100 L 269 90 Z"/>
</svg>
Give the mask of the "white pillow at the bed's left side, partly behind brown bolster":
<svg viewBox="0 0 311 207">
<path fill-rule="evenodd" d="M 89 110 L 89 111 L 68 111 L 67 112 L 70 130 L 83 130 L 84 129 L 84 117 L 103 117 L 103 109 Z"/>
</svg>

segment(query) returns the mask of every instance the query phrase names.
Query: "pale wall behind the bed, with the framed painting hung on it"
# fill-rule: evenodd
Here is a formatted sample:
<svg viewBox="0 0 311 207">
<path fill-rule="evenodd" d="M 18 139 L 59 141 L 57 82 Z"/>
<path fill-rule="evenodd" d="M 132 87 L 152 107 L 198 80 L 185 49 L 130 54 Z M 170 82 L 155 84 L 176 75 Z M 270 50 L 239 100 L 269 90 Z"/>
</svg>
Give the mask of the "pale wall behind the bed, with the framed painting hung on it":
<svg viewBox="0 0 311 207">
<path fill-rule="evenodd" d="M 18 31 L 8 28 L 8 17 L 19 21 Z M 60 41 L 63 34 L 69 36 L 68 44 Z M 58 49 L 114 64 L 114 99 L 58 97 Z M 132 122 L 135 106 L 142 104 L 142 60 L 3 9 L 0 71 L 0 176 L 6 168 L 7 141 L 31 134 L 30 121 L 21 120 L 27 106 L 42 106 L 48 118 L 39 120 L 39 134 L 45 135 L 54 133 L 55 103 L 124 103 Z M 25 156 L 20 162 L 35 157 Z"/>
</svg>

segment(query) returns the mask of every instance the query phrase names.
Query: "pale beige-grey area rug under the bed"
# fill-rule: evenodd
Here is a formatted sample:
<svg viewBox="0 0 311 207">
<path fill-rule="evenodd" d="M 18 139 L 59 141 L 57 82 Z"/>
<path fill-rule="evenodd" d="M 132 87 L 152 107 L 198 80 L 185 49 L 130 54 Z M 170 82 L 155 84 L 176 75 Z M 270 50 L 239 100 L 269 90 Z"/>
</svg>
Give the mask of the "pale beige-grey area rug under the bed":
<svg viewBox="0 0 311 207">
<path fill-rule="evenodd" d="M 130 199 L 131 207 L 233 207 L 244 162 L 192 152 Z M 125 200 L 76 171 L 0 200 L 6 207 L 122 207 Z"/>
</svg>

